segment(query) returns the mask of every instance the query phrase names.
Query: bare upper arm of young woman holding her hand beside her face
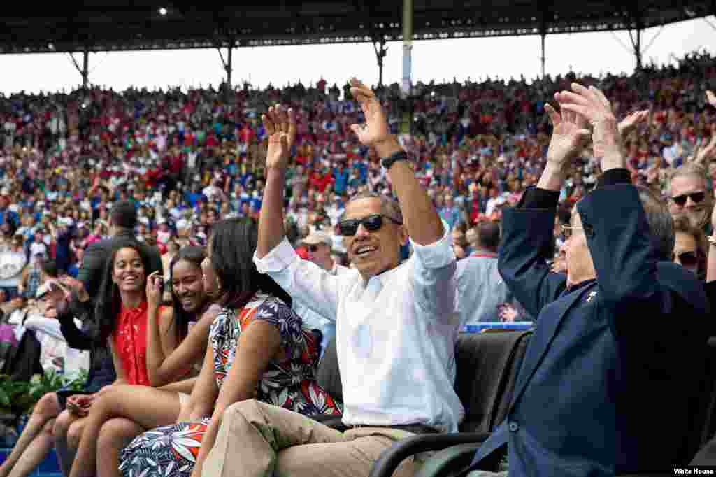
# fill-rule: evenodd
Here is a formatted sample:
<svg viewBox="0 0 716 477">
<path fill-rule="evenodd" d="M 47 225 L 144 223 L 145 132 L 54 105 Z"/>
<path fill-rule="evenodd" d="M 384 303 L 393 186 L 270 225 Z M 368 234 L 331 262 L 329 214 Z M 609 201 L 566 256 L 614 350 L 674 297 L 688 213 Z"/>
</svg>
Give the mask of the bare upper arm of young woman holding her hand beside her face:
<svg viewBox="0 0 716 477">
<path fill-rule="evenodd" d="M 162 360 L 155 363 L 155 369 L 150 370 L 150 355 L 147 350 L 147 370 L 153 386 L 167 385 L 182 377 L 188 367 L 199 362 L 207 349 L 209 328 L 218 314 L 218 307 L 209 308 L 189 331 L 182 342 L 169 352 L 165 351 Z M 162 332 L 163 335 L 167 332 Z M 175 334 L 169 332 L 168 334 Z M 148 339 L 148 334 L 147 334 Z M 166 350 L 167 348 L 165 348 Z"/>
</svg>

